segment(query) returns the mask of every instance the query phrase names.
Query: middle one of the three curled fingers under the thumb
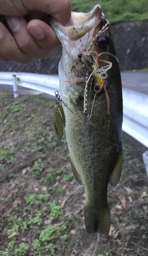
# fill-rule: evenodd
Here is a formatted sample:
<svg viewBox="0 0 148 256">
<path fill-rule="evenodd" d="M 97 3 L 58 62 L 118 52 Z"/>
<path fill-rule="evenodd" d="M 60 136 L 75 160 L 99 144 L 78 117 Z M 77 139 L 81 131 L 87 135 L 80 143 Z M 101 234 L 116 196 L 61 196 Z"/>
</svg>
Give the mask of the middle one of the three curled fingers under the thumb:
<svg viewBox="0 0 148 256">
<path fill-rule="evenodd" d="M 35 58 L 47 58 L 51 54 L 53 48 L 48 48 L 48 51 L 41 48 L 29 33 L 26 19 L 23 17 L 7 17 L 6 20 L 17 45 L 22 52 Z M 44 33 L 42 31 L 40 36 L 41 39 L 44 37 Z"/>
</svg>

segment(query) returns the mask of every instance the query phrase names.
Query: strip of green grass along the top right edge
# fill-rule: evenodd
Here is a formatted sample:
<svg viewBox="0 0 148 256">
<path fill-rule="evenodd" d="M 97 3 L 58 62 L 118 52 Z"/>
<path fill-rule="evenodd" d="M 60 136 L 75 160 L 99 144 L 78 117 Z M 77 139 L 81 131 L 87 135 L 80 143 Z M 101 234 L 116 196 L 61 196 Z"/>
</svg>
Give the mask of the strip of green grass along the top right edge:
<svg viewBox="0 0 148 256">
<path fill-rule="evenodd" d="M 148 19 L 147 0 L 72 0 L 72 11 L 88 12 L 96 4 L 100 4 L 110 23 Z"/>
</svg>

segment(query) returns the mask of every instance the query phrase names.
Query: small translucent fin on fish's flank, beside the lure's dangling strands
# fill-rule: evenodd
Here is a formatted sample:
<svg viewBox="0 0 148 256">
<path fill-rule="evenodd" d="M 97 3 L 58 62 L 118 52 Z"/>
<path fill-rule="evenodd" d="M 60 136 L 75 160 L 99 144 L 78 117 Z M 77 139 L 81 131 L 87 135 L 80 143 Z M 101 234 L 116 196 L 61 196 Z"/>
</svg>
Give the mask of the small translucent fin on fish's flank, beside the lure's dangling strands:
<svg viewBox="0 0 148 256">
<path fill-rule="evenodd" d="M 71 100 L 78 116 L 86 124 L 87 122 L 87 113 L 84 113 L 84 97 L 79 96 L 76 101 Z"/>
</svg>

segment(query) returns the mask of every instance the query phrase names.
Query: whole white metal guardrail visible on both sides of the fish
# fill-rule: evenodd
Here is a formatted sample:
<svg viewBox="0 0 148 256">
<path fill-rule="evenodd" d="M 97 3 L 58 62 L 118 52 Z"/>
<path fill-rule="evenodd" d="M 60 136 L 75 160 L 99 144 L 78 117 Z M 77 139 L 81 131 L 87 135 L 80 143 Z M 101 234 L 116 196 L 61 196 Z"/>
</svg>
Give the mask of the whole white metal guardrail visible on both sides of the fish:
<svg viewBox="0 0 148 256">
<path fill-rule="evenodd" d="M 0 72 L 0 84 L 13 86 L 14 97 L 18 86 L 37 90 L 55 96 L 59 91 L 58 75 Z M 148 96 L 123 89 L 124 120 L 122 130 L 148 147 Z"/>
</svg>

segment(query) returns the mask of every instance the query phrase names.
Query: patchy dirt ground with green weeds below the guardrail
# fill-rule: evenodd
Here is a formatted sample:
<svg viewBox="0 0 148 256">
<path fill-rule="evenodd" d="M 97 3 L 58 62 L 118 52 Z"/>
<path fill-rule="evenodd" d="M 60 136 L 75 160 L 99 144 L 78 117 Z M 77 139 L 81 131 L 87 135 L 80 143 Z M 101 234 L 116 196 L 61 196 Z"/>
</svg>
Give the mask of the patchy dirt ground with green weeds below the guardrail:
<svg viewBox="0 0 148 256">
<path fill-rule="evenodd" d="M 108 188 L 109 236 L 88 234 L 84 188 L 71 177 L 55 102 L 0 92 L 0 256 L 147 256 L 148 180 L 140 148 L 123 135 L 120 183 Z"/>
</svg>

